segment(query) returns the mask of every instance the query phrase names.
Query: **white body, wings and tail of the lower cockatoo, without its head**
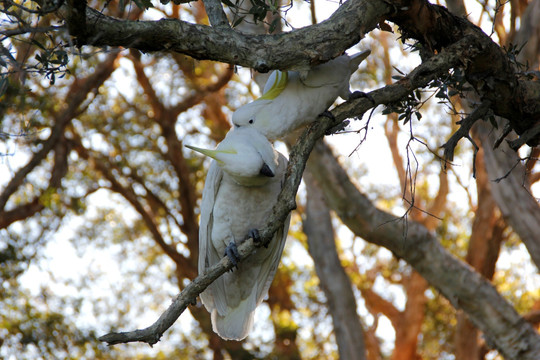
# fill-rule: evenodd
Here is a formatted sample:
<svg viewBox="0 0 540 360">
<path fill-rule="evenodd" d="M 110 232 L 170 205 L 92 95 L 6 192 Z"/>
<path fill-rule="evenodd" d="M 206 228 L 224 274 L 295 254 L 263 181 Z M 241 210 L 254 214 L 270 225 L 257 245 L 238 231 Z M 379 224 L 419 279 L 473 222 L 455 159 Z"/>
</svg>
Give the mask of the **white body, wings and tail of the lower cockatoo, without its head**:
<svg viewBox="0 0 540 360">
<path fill-rule="evenodd" d="M 277 153 L 277 152 L 276 152 Z M 275 177 L 263 186 L 242 186 L 212 161 L 203 190 L 199 230 L 199 273 L 224 256 L 233 238 L 243 240 L 251 229 L 265 225 L 281 191 L 287 160 L 278 154 Z M 244 339 L 255 308 L 263 301 L 276 273 L 290 215 L 268 248 L 259 248 L 238 269 L 214 281 L 200 297 L 211 313 L 212 328 L 224 339 Z"/>
</svg>

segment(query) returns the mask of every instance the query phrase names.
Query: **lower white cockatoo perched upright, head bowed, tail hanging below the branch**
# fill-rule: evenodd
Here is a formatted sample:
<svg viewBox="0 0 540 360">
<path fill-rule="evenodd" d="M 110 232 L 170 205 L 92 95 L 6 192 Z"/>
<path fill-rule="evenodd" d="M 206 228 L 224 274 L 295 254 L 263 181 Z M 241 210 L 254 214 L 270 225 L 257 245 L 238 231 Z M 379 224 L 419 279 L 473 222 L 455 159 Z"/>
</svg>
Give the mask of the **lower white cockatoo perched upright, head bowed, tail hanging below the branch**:
<svg viewBox="0 0 540 360">
<path fill-rule="evenodd" d="M 287 160 L 250 127 L 230 131 L 215 150 L 189 147 L 214 159 L 201 203 L 202 274 L 225 254 L 235 262 L 235 243 L 256 236 L 256 229 L 265 225 L 281 191 Z M 289 220 L 267 248 L 257 249 L 237 264 L 237 270 L 222 275 L 201 293 L 202 303 L 211 313 L 212 328 L 222 338 L 242 340 L 248 335 L 255 308 L 276 273 Z"/>
</svg>

